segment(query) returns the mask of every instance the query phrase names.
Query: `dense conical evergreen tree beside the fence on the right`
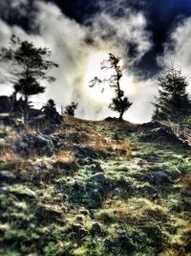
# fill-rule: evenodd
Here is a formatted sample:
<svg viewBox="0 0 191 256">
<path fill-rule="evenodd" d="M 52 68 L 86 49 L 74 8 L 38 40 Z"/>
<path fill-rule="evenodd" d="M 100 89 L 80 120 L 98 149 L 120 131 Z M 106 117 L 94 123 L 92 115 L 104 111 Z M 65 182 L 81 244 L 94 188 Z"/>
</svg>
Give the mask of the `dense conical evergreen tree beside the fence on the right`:
<svg viewBox="0 0 191 256">
<path fill-rule="evenodd" d="M 159 77 L 159 96 L 156 103 L 153 120 L 172 121 L 180 123 L 190 114 L 191 102 L 186 91 L 188 80 L 181 70 L 174 67 Z"/>
</svg>

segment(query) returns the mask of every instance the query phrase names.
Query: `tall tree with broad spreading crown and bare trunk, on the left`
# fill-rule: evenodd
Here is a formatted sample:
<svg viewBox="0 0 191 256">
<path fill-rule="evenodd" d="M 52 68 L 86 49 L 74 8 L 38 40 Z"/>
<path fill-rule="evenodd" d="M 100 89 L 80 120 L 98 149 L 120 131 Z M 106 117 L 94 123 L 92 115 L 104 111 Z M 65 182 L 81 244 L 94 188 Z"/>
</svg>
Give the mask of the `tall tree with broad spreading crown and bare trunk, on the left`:
<svg viewBox="0 0 191 256">
<path fill-rule="evenodd" d="M 29 98 L 32 95 L 43 93 L 45 87 L 40 81 L 52 82 L 55 79 L 47 72 L 58 67 L 50 60 L 51 51 L 48 48 L 36 48 L 32 42 L 21 41 L 15 35 L 11 36 L 10 47 L 1 48 L 1 61 L 11 64 L 11 82 L 16 93 L 24 97 L 24 123 L 28 122 Z"/>
</svg>

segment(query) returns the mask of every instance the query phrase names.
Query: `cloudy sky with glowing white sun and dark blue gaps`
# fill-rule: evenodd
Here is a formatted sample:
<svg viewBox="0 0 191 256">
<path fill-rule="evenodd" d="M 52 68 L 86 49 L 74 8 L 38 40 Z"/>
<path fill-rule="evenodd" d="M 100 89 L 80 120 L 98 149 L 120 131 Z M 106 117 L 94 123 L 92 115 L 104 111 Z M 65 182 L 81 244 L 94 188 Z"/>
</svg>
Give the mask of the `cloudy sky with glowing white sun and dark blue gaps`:
<svg viewBox="0 0 191 256">
<path fill-rule="evenodd" d="M 121 86 L 133 105 L 124 119 L 143 123 L 151 119 L 157 77 L 173 62 L 185 76 L 191 72 L 190 0 L 1 0 L 0 47 L 11 35 L 36 47 L 52 50 L 58 69 L 46 93 L 32 98 L 36 107 L 52 98 L 61 105 L 78 102 L 76 115 L 102 119 L 117 114 L 108 105 L 114 96 L 109 86 L 88 86 L 104 76 L 100 62 L 113 53 L 121 58 Z M 12 84 L 0 66 L 0 95 L 9 95 Z M 188 87 L 190 90 L 191 87 Z"/>
</svg>

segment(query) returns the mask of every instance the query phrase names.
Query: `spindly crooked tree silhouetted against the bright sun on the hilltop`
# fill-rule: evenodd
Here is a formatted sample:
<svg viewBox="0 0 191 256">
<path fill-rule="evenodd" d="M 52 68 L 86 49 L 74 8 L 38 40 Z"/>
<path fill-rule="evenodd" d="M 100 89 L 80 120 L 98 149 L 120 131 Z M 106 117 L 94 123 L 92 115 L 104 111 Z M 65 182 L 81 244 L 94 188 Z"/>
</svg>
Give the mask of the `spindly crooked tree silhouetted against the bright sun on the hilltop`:
<svg viewBox="0 0 191 256">
<path fill-rule="evenodd" d="M 110 53 L 109 58 L 101 62 L 101 69 L 111 69 L 114 71 L 113 74 L 109 79 L 104 80 L 95 77 L 92 81 L 90 81 L 90 87 L 94 87 L 96 84 L 103 82 L 108 82 L 109 86 L 114 88 L 116 96 L 112 99 L 112 103 L 109 105 L 109 108 L 119 113 L 118 120 L 121 121 L 123 114 L 132 105 L 132 103 L 130 103 L 127 96 L 124 95 L 124 91 L 120 86 L 122 71 L 119 65 L 119 60 L 120 58 L 117 58 Z"/>
</svg>

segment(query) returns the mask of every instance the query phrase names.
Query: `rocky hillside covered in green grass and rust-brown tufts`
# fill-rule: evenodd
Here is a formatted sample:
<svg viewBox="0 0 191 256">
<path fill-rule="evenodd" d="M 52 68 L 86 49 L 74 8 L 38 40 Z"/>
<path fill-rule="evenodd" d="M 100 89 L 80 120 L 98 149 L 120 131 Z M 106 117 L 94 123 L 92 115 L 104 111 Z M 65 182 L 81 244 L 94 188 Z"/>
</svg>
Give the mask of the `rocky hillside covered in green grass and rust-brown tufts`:
<svg viewBox="0 0 191 256">
<path fill-rule="evenodd" d="M 191 151 L 152 129 L 2 122 L 0 255 L 191 255 Z M 36 132 L 53 151 L 26 149 Z"/>
</svg>

